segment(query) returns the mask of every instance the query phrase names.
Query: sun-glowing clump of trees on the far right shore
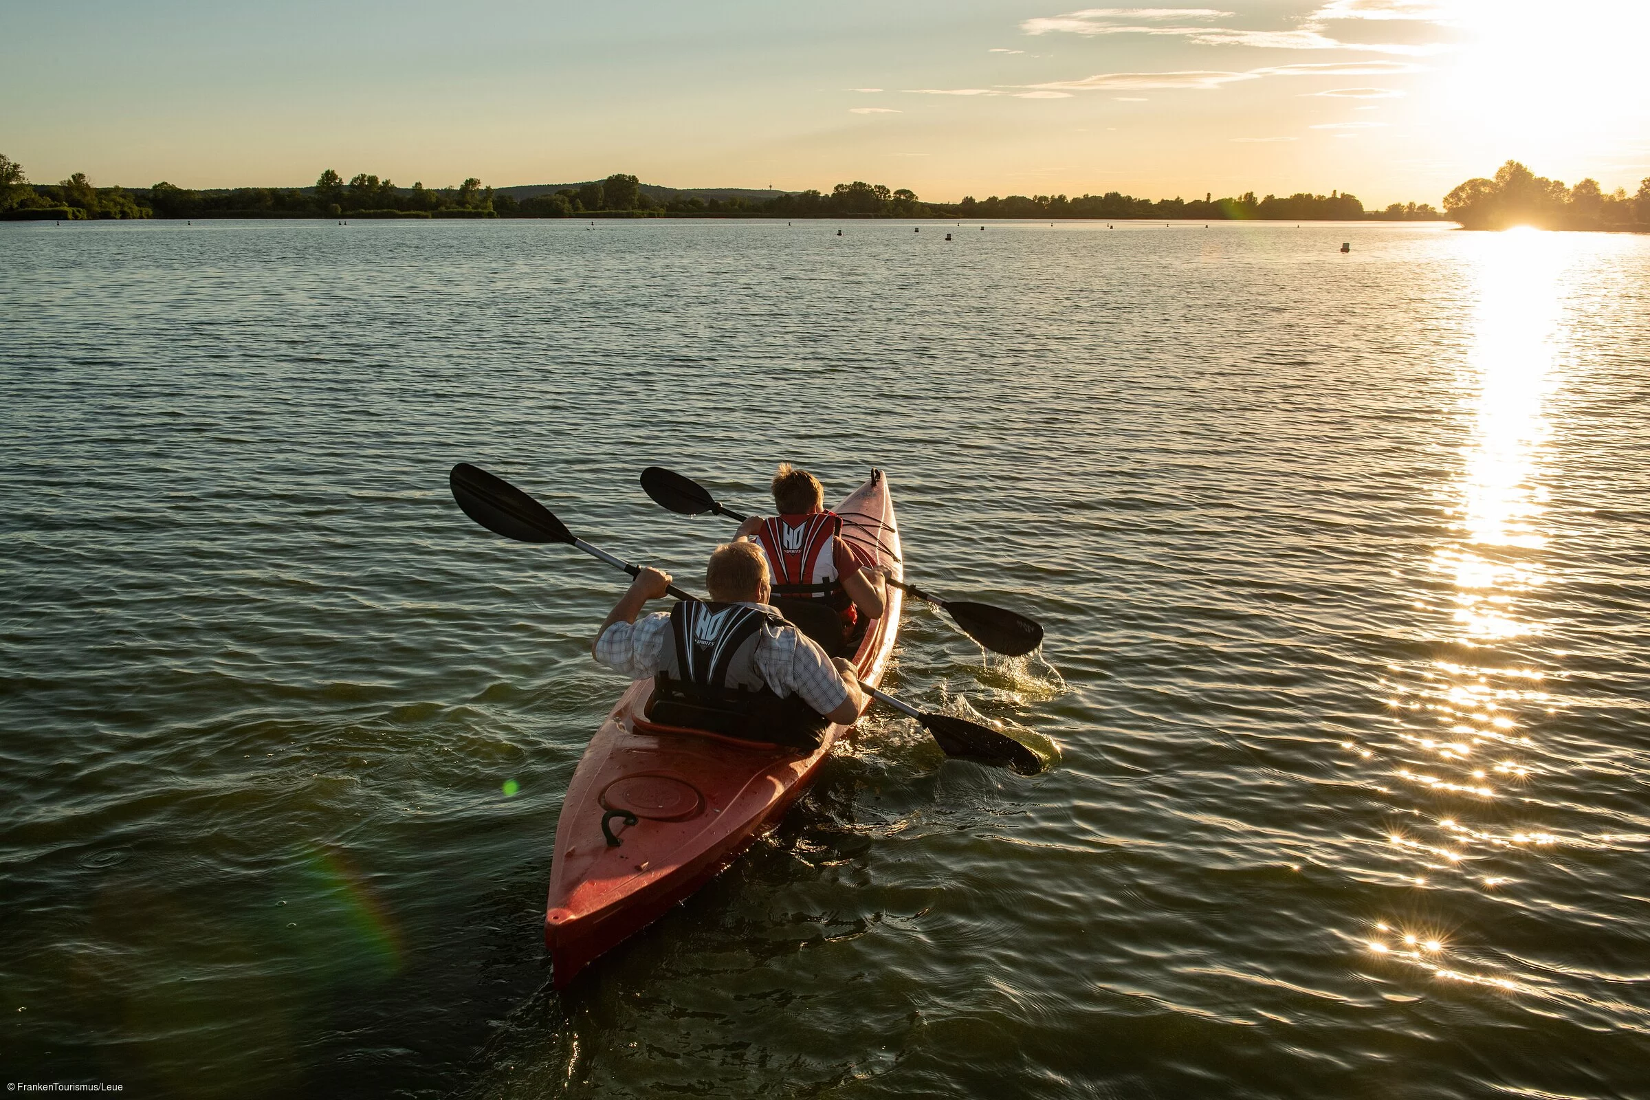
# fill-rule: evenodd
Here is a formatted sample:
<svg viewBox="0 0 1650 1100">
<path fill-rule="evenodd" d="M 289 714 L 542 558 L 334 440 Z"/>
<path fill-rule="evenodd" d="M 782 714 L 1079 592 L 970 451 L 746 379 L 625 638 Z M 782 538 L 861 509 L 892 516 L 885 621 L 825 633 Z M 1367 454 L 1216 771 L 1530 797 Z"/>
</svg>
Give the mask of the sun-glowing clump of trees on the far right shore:
<svg viewBox="0 0 1650 1100">
<path fill-rule="evenodd" d="M 1508 160 L 1493 180 L 1467 180 L 1445 195 L 1444 213 L 1467 229 L 1650 229 L 1650 178 L 1635 195 L 1605 193 L 1597 180 L 1564 186 Z"/>
</svg>

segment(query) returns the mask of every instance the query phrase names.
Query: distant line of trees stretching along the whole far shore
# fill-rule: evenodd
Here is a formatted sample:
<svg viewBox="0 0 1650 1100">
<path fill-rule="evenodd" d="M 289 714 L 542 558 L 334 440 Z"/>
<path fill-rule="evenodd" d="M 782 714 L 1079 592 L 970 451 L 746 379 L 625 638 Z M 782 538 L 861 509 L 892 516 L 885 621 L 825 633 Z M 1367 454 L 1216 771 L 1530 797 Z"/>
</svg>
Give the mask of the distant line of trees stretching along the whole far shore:
<svg viewBox="0 0 1650 1100">
<path fill-rule="evenodd" d="M 1650 223 L 1650 180 L 1637 196 L 1605 195 L 1597 181 L 1572 188 L 1506 162 L 1493 180 L 1468 180 L 1444 200 L 1444 214 L 1431 204 L 1393 203 L 1366 211 L 1345 191 L 1305 191 L 1257 198 L 1147 200 L 1106 195 L 1008 195 L 960 203 L 924 203 L 906 188 L 881 183 L 838 183 L 828 193 L 799 191 L 774 198 L 700 198 L 645 188 L 634 175 L 566 186 L 515 200 L 470 178 L 459 186 L 396 186 L 388 178 L 360 173 L 345 181 L 328 168 L 307 188 L 233 188 L 191 191 L 172 183 L 148 188 L 96 188 L 82 173 L 61 183 L 28 183 L 21 165 L 0 155 L 0 218 L 1091 218 L 1165 221 L 1431 221 L 1452 218 L 1468 229 L 1536 224 L 1553 229 L 1632 228 Z"/>
</svg>

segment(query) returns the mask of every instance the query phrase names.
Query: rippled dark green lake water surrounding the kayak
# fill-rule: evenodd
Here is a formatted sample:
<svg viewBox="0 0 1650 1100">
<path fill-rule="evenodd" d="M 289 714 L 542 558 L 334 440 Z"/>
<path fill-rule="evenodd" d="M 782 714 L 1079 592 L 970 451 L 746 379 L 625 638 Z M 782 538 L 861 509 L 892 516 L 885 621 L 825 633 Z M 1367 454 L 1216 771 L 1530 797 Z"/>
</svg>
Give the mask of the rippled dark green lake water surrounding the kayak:
<svg viewBox="0 0 1650 1100">
<path fill-rule="evenodd" d="M 835 236 L 837 229 L 843 236 Z M 945 241 L 945 233 L 954 241 Z M 1340 244 L 1351 244 L 1350 254 Z M 1614 1097 L 1650 1064 L 1650 237 L 0 224 L 8 1080 L 125 1095 Z M 553 994 L 624 577 L 888 472 L 889 686 Z M 515 793 L 507 793 L 508 790 Z"/>
</svg>

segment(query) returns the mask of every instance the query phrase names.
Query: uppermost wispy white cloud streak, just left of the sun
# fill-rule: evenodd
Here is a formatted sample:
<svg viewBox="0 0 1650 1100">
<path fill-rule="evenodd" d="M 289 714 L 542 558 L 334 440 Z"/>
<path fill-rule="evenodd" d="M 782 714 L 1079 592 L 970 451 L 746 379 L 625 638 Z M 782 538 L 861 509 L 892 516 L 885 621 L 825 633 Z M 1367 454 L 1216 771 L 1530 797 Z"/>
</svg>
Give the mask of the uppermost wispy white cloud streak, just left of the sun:
<svg viewBox="0 0 1650 1100">
<path fill-rule="evenodd" d="M 1440 43 L 1350 43 L 1325 33 L 1335 20 L 1436 20 L 1437 0 L 1330 0 L 1294 30 L 1239 30 L 1191 23 L 1226 18 L 1218 8 L 1084 8 L 1064 15 L 1025 20 L 1026 35 L 1160 35 L 1185 38 L 1204 46 L 1249 46 L 1252 49 L 1360 49 L 1366 53 L 1424 56 L 1447 49 Z"/>
</svg>

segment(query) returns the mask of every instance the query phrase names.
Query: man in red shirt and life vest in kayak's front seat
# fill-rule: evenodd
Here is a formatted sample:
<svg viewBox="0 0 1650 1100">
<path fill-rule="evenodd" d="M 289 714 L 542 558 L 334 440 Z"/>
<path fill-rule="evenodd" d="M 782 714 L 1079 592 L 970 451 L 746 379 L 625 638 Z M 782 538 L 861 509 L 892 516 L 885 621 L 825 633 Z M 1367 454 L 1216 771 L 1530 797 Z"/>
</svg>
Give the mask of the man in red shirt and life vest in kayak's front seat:
<svg viewBox="0 0 1650 1100">
<path fill-rule="evenodd" d="M 774 506 L 777 516 L 751 516 L 741 523 L 739 538 L 756 543 L 767 557 L 774 602 L 780 610 L 792 615 L 823 605 L 837 615 L 837 638 L 818 638 L 815 630 L 808 630 L 808 622 L 797 625 L 832 653 L 842 651 L 863 635 L 865 623 L 883 617 L 888 595 L 883 571 L 865 551 L 842 538 L 842 519 L 825 510 L 825 487 L 807 470 L 779 463 Z M 817 613 L 797 613 L 797 618 Z"/>
</svg>

